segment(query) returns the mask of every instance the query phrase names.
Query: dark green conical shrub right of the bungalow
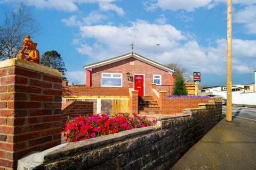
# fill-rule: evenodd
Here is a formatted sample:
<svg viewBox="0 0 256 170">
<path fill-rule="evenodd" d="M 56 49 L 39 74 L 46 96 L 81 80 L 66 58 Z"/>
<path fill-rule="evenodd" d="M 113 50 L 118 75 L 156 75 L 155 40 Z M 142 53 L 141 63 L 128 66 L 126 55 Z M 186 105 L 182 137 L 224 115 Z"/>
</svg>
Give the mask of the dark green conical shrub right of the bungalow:
<svg viewBox="0 0 256 170">
<path fill-rule="evenodd" d="M 181 75 L 174 76 L 174 88 L 172 95 L 187 96 L 188 91 L 186 89 L 184 79 Z"/>
</svg>

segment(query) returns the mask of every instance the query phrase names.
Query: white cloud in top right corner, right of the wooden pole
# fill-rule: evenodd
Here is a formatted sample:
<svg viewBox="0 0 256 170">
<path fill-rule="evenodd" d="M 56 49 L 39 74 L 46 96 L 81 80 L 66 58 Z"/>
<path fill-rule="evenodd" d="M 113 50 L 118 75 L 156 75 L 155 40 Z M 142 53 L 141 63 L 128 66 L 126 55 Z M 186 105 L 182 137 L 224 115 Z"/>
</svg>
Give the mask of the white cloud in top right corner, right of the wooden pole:
<svg viewBox="0 0 256 170">
<path fill-rule="evenodd" d="M 234 22 L 245 24 L 246 33 L 256 33 L 256 5 L 246 6 L 235 13 Z"/>
</svg>

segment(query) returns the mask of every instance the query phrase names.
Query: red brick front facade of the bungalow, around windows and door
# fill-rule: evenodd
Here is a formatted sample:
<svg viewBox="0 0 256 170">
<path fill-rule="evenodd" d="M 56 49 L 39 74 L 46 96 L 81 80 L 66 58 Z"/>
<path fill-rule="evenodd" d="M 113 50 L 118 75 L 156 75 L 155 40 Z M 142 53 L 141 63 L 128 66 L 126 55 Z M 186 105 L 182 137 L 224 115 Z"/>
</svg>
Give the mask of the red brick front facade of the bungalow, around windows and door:
<svg viewBox="0 0 256 170">
<path fill-rule="evenodd" d="M 123 87 L 129 87 L 129 81 L 127 80 L 126 73 L 130 72 L 133 77 L 133 73 L 145 74 L 145 96 L 150 95 L 150 83 L 153 83 L 153 74 L 162 75 L 162 84 L 170 85 L 170 75 L 168 72 L 158 69 L 155 66 L 141 62 L 133 57 L 127 58 L 122 61 L 104 65 L 92 69 L 92 86 L 101 87 L 101 73 L 123 73 Z M 133 82 L 133 80 L 132 80 Z M 166 87 L 157 87 L 157 90 L 165 90 Z"/>
</svg>

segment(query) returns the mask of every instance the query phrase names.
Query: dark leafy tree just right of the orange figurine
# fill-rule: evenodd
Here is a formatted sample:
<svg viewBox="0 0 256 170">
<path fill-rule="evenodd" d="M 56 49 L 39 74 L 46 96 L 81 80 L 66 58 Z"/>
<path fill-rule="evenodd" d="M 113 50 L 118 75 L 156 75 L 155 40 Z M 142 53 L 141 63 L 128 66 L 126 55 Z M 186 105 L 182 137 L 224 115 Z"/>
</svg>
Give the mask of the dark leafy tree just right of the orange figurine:
<svg viewBox="0 0 256 170">
<path fill-rule="evenodd" d="M 51 52 L 45 52 L 41 57 L 40 63 L 42 65 L 59 70 L 59 72 L 61 72 L 63 75 L 62 79 L 67 80 L 67 78 L 65 77 L 65 72 L 67 71 L 67 69 L 65 68 L 65 63 L 63 62 L 62 57 L 58 52 L 54 50 L 52 50 Z"/>
</svg>

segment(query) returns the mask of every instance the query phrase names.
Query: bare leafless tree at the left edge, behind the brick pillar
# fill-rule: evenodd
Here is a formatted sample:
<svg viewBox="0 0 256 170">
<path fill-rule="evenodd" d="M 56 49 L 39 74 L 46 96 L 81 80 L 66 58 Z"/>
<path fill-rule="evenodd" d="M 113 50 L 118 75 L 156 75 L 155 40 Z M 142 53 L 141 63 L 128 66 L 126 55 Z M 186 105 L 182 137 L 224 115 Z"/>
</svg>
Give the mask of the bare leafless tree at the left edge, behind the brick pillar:
<svg viewBox="0 0 256 170">
<path fill-rule="evenodd" d="M 24 3 L 17 4 L 13 11 L 6 11 L 0 22 L 0 60 L 18 57 L 23 38 L 37 32 L 39 24 Z"/>
</svg>

